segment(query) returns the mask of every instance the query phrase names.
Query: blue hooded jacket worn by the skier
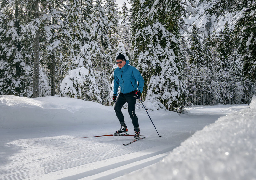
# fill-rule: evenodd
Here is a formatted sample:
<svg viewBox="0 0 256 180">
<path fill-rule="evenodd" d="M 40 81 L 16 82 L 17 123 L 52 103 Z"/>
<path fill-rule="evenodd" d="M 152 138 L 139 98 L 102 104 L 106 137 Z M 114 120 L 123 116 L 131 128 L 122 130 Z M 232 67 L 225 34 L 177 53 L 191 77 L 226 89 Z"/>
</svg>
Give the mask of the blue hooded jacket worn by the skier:
<svg viewBox="0 0 256 180">
<path fill-rule="evenodd" d="M 126 60 L 126 64 L 122 68 L 117 67 L 114 71 L 114 95 L 116 96 L 119 86 L 121 93 L 124 94 L 135 90 L 143 91 L 144 79 L 139 70 L 129 65 L 129 60 Z"/>
</svg>

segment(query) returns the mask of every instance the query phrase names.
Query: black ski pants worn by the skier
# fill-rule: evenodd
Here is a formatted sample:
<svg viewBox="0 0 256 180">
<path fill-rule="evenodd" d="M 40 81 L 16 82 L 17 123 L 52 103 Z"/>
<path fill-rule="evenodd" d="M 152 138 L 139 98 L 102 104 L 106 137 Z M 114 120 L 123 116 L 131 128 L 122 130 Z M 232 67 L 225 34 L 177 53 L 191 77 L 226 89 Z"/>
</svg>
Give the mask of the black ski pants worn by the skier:
<svg viewBox="0 0 256 180">
<path fill-rule="evenodd" d="M 135 114 L 135 104 L 136 104 L 136 98 L 134 97 L 136 91 L 132 91 L 130 93 L 124 94 L 120 93 L 119 96 L 116 98 L 116 104 L 114 107 L 114 110 L 116 112 L 116 116 L 120 123 L 124 122 L 124 115 L 121 111 L 124 104 L 128 103 L 128 113 L 132 119 L 132 124 L 134 127 L 139 126 L 138 117 Z"/>
</svg>

